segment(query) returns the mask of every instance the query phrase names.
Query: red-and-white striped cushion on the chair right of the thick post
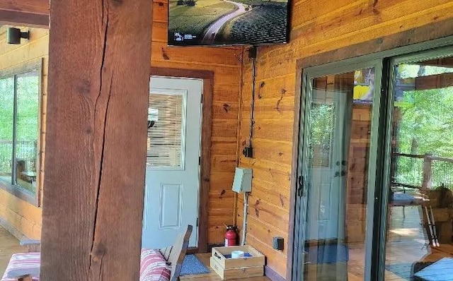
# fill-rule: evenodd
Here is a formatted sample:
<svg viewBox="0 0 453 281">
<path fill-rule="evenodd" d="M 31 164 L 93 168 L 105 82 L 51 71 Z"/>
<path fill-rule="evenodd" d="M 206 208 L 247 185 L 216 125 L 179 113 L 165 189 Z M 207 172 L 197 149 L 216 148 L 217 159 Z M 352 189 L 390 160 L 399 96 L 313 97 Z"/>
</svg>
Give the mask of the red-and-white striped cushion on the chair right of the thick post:
<svg viewBox="0 0 453 281">
<path fill-rule="evenodd" d="M 159 250 L 142 249 L 140 281 L 168 281 L 170 269 Z"/>
</svg>

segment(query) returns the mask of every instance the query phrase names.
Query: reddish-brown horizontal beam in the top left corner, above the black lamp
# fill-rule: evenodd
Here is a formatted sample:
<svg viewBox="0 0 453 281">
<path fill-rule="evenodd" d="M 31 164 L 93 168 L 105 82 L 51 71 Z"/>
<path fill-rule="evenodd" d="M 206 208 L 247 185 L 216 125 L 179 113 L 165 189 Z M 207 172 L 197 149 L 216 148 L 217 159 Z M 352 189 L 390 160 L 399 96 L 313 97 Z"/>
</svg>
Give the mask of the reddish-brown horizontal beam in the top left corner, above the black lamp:
<svg viewBox="0 0 453 281">
<path fill-rule="evenodd" d="M 0 1 L 0 23 L 49 28 L 49 0 Z"/>
</svg>

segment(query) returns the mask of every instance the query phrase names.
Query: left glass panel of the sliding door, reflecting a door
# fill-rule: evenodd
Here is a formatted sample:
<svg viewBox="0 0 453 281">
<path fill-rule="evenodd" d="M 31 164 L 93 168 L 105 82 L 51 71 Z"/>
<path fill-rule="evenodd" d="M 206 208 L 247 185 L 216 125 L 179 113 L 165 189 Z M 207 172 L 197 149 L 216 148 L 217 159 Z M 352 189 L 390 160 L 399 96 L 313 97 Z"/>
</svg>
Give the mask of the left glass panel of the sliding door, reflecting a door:
<svg viewBox="0 0 453 281">
<path fill-rule="evenodd" d="M 364 280 L 375 69 L 307 78 L 296 280 Z"/>
</svg>

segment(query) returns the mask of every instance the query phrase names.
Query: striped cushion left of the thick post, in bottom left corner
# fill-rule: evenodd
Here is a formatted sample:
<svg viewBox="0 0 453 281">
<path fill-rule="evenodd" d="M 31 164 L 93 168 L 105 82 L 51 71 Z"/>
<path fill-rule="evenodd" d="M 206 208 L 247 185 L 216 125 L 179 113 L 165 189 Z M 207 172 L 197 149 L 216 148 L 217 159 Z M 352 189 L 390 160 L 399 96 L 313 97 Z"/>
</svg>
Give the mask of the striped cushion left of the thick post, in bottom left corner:
<svg viewBox="0 0 453 281">
<path fill-rule="evenodd" d="M 23 273 L 38 273 L 40 268 L 40 253 L 13 253 L 9 260 L 8 267 L 5 270 L 1 281 L 16 281 L 15 278 L 8 278 L 11 270 L 21 270 Z M 28 271 L 30 270 L 30 271 Z M 40 280 L 39 274 L 32 276 L 33 281 Z"/>
</svg>

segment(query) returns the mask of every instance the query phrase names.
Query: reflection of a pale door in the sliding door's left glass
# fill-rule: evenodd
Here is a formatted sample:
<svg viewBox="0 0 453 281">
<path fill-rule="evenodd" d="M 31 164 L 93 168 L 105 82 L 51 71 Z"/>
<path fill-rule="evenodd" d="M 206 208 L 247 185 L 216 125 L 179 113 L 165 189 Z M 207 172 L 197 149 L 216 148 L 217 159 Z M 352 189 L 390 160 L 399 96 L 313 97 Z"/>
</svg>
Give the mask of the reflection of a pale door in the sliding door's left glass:
<svg viewBox="0 0 453 281">
<path fill-rule="evenodd" d="M 311 97 L 306 235 L 308 240 L 343 239 L 352 96 L 314 89 Z"/>
</svg>

